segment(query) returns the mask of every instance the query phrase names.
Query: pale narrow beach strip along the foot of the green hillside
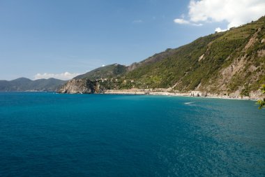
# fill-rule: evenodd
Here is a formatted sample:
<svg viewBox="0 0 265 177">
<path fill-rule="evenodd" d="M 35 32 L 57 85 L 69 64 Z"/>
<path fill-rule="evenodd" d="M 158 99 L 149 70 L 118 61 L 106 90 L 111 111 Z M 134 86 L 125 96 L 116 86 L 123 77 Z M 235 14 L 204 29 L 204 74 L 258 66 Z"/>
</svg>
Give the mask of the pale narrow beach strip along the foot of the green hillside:
<svg viewBox="0 0 265 177">
<path fill-rule="evenodd" d="M 262 99 L 259 97 L 229 97 L 227 95 L 207 94 L 206 96 L 192 96 L 190 92 L 178 93 L 178 92 L 153 92 L 146 90 L 107 90 L 103 94 L 128 94 L 128 95 L 152 95 L 152 96 L 172 96 L 172 97 L 202 97 L 209 99 L 236 99 L 236 100 L 252 100 L 257 101 Z"/>
</svg>

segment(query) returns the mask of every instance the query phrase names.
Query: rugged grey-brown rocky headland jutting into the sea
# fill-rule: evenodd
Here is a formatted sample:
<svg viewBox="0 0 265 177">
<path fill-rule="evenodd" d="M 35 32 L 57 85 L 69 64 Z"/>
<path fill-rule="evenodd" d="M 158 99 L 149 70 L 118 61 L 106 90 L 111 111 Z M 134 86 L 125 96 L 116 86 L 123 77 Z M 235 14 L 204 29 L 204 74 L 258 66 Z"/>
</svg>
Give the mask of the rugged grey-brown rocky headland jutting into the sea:
<svg viewBox="0 0 265 177">
<path fill-rule="evenodd" d="M 68 83 L 59 88 L 59 93 L 68 93 L 68 94 L 93 94 L 101 93 L 104 89 L 100 87 L 98 82 L 91 81 L 89 79 L 72 79 Z"/>
</svg>

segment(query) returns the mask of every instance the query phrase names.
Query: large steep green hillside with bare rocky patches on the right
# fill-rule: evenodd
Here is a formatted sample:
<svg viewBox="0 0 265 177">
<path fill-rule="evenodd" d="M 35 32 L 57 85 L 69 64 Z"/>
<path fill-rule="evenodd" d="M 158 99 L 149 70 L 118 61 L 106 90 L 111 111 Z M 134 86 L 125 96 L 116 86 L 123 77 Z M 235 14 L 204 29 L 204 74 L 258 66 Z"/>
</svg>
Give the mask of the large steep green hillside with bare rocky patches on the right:
<svg viewBox="0 0 265 177">
<path fill-rule="evenodd" d="M 169 88 L 248 96 L 265 83 L 265 17 L 130 66 L 119 89 Z M 129 82 L 128 82 L 129 80 Z"/>
</svg>

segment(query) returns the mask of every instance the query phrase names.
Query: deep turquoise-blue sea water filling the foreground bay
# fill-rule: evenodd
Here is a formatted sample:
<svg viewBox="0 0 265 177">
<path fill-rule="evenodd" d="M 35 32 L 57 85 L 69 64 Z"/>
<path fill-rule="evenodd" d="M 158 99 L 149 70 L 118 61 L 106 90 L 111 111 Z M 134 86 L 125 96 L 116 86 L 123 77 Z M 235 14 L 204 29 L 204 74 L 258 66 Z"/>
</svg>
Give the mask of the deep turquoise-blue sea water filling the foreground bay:
<svg viewBox="0 0 265 177">
<path fill-rule="evenodd" d="M 0 176 L 265 176 L 255 101 L 0 93 Z"/>
</svg>

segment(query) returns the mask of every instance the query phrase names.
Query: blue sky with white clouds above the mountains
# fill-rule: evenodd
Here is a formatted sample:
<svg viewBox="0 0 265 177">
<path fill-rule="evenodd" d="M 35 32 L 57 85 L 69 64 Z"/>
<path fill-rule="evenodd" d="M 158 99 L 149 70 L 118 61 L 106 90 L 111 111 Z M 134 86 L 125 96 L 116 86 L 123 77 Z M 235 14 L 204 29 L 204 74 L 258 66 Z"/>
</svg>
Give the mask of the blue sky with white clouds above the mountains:
<svg viewBox="0 0 265 177">
<path fill-rule="evenodd" d="M 0 80 L 68 80 L 257 20 L 265 0 L 0 0 Z"/>
</svg>

